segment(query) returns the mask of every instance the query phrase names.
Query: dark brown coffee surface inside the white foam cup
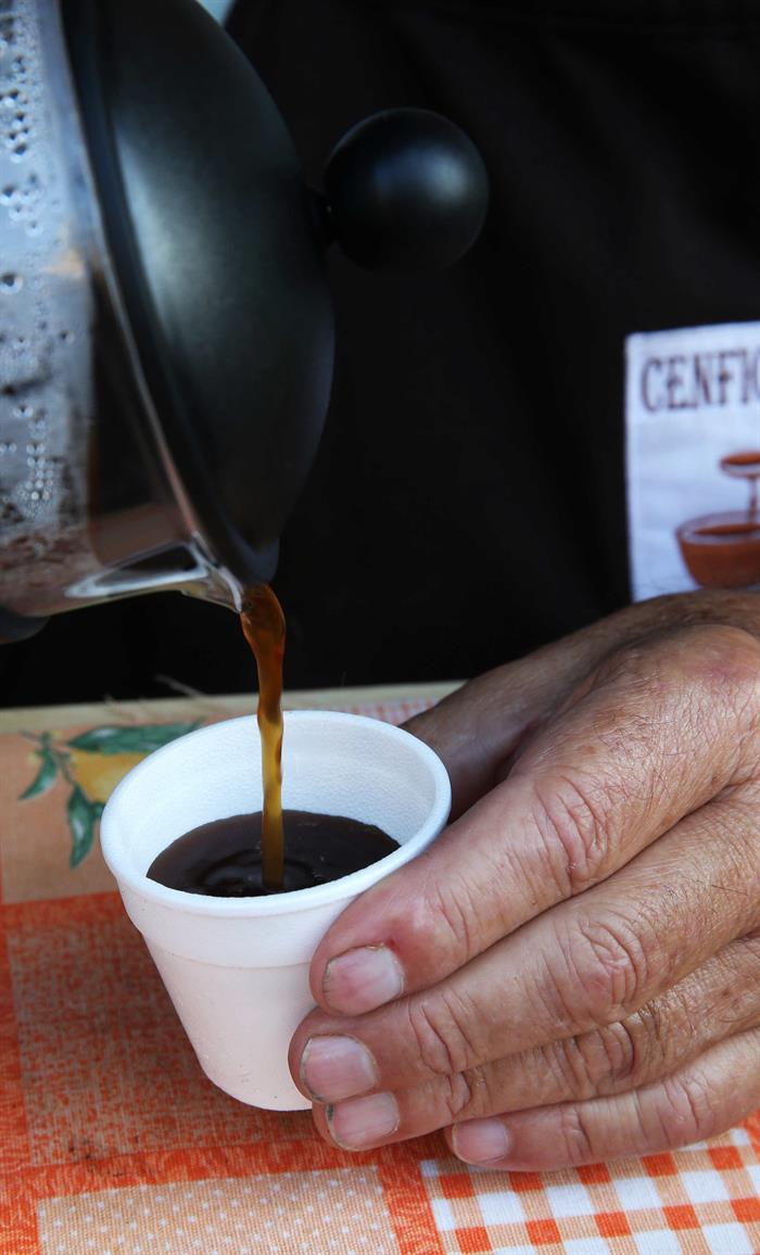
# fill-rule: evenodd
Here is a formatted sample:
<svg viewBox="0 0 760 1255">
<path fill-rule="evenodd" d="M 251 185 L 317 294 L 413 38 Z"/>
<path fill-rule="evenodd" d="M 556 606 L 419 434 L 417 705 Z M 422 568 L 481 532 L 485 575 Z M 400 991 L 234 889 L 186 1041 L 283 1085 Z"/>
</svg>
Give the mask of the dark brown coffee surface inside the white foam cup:
<svg viewBox="0 0 760 1255">
<path fill-rule="evenodd" d="M 282 887 L 263 887 L 261 812 L 214 820 L 167 846 L 148 877 L 186 894 L 209 897 L 261 897 L 311 889 L 385 858 L 399 842 L 360 820 L 309 811 L 285 811 Z"/>
</svg>

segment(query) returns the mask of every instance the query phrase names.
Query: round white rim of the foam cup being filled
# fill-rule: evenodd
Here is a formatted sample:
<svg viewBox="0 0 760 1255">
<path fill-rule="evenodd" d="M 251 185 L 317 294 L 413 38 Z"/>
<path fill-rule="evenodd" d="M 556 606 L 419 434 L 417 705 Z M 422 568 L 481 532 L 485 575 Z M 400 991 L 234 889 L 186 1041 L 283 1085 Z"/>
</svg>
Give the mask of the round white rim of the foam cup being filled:
<svg viewBox="0 0 760 1255">
<path fill-rule="evenodd" d="M 124 779 L 117 784 L 103 811 L 100 821 L 100 850 L 108 868 L 119 885 L 127 885 L 143 899 L 158 902 L 162 906 L 182 910 L 186 915 L 204 915 L 223 919 L 283 915 L 288 911 L 311 910 L 312 907 L 340 901 L 344 897 L 357 896 L 365 889 L 370 889 L 380 880 L 385 880 L 398 867 L 403 867 L 404 863 L 410 862 L 415 855 L 421 853 L 433 837 L 445 826 L 451 808 L 451 783 L 443 762 L 424 740 L 419 740 L 410 732 L 405 732 L 404 728 L 396 728 L 391 723 L 384 723 L 381 719 L 372 719 L 367 715 L 351 714 L 346 710 L 286 710 L 283 714 L 286 734 L 287 724 L 292 722 L 346 722 L 369 724 L 372 729 L 376 729 L 379 737 L 388 737 L 391 740 L 404 740 L 408 743 L 414 749 L 416 757 L 423 759 L 430 769 L 434 783 L 433 806 L 425 822 L 418 828 L 415 835 L 399 846 L 398 850 L 394 850 L 393 853 L 385 855 L 384 858 L 370 863 L 369 867 L 360 867 L 359 871 L 351 872 L 349 876 L 341 876 L 339 880 L 329 881 L 326 885 L 314 885 L 311 889 L 296 889 L 287 894 L 272 894 L 263 897 L 212 897 L 203 894 L 187 894 L 179 889 L 168 889 L 166 885 L 159 885 L 158 881 L 150 880 L 147 875 L 135 872 L 127 862 L 125 843 L 115 835 L 114 823 L 120 798 L 134 787 L 134 779 L 148 771 L 156 771 L 158 759 L 176 754 L 179 745 L 184 742 L 203 737 L 212 738 L 219 728 L 230 727 L 231 724 L 250 724 L 250 720 L 255 718 L 255 715 L 242 715 L 236 719 L 222 719 L 204 728 L 197 728 L 196 732 L 188 732 L 184 737 L 178 737 L 176 740 L 169 742 L 168 745 L 154 749 L 152 754 L 148 754 L 142 763 L 133 767 Z"/>
</svg>

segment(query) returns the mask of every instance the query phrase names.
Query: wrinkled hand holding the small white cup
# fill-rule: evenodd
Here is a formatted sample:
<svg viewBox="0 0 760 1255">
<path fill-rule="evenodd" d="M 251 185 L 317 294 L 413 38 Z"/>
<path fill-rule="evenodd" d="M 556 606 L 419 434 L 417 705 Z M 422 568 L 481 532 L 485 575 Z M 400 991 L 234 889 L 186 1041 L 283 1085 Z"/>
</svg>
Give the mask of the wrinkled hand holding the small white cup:
<svg viewBox="0 0 760 1255">
<path fill-rule="evenodd" d="M 760 1106 L 760 599 L 632 606 L 410 730 L 454 822 L 315 955 L 291 1069 L 322 1136 L 543 1170 Z"/>
</svg>

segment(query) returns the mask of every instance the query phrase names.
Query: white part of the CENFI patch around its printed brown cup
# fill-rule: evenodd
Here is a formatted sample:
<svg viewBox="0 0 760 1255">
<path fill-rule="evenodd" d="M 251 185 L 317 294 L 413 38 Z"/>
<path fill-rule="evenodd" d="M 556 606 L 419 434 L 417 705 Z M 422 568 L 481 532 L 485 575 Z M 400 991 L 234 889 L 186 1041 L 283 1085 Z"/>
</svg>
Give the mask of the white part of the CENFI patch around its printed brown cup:
<svg viewBox="0 0 760 1255">
<path fill-rule="evenodd" d="M 760 323 L 628 336 L 626 434 L 633 596 L 696 589 L 678 528 L 749 507 L 720 461 L 760 451 Z"/>
</svg>

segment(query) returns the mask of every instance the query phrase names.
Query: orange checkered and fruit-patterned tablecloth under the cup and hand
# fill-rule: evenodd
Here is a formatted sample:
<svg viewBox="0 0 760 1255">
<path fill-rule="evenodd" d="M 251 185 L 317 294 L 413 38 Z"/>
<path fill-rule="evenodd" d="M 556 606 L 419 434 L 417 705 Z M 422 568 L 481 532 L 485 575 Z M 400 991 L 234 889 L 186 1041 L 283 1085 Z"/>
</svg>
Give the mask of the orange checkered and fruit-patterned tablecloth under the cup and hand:
<svg viewBox="0 0 760 1255">
<path fill-rule="evenodd" d="M 430 702 L 342 698 L 393 722 Z M 760 1113 L 677 1155 L 499 1173 L 439 1137 L 344 1155 L 307 1113 L 203 1077 L 94 838 L 133 762 L 224 713 L 145 703 L 0 732 L 0 1251 L 760 1252 Z"/>
</svg>

